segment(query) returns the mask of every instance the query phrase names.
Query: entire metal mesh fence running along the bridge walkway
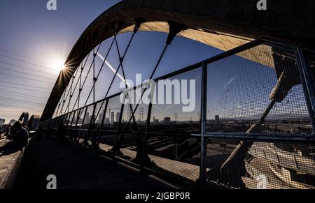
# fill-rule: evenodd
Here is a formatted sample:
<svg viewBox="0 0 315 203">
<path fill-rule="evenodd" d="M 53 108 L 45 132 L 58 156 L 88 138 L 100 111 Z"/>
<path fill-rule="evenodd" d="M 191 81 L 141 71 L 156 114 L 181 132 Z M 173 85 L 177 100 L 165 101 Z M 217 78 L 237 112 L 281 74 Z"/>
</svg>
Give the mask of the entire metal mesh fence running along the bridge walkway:
<svg viewBox="0 0 315 203">
<path fill-rule="evenodd" d="M 93 145 L 98 136 L 99 148 L 108 155 L 195 186 L 201 183 L 205 158 L 206 188 L 314 188 L 315 146 L 305 142 L 305 137 L 314 135 L 314 123 L 295 56 L 293 49 L 266 43 L 207 62 L 204 123 L 204 72 L 198 64 L 163 77 L 171 82 L 195 81 L 195 106 L 190 112 L 183 111 L 183 104 L 167 103 L 169 97 L 170 103 L 176 103 L 176 93 L 163 91 L 165 104 L 139 106 L 122 105 L 115 95 L 45 121 L 41 127 L 55 133 L 64 123 L 70 140 L 85 140 L 85 145 Z M 314 84 L 314 54 L 306 52 L 306 59 Z M 176 91 L 172 84 L 169 89 Z M 158 92 L 160 87 L 156 88 Z M 159 100 L 161 95 L 153 97 Z M 211 137 L 205 155 L 200 135 L 192 136 L 196 134 Z M 295 137 L 305 138 L 304 142 Z"/>
</svg>

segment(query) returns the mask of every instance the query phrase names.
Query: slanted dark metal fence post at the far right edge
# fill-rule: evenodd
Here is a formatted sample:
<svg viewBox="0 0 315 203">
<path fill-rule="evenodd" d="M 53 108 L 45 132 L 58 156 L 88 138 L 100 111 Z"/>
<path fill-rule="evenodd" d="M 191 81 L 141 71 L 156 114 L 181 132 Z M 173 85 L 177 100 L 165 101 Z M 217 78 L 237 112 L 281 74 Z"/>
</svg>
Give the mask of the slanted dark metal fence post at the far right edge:
<svg viewBox="0 0 315 203">
<path fill-rule="evenodd" d="M 311 118 L 311 126 L 315 130 L 315 95 L 314 95 L 314 82 L 311 81 L 310 70 L 307 62 L 305 61 L 304 52 L 300 47 L 297 47 L 295 52 L 297 58 L 298 69 L 300 72 L 300 78 L 304 91 L 305 100 L 307 102 L 307 108 L 309 110 L 309 116 Z"/>
</svg>

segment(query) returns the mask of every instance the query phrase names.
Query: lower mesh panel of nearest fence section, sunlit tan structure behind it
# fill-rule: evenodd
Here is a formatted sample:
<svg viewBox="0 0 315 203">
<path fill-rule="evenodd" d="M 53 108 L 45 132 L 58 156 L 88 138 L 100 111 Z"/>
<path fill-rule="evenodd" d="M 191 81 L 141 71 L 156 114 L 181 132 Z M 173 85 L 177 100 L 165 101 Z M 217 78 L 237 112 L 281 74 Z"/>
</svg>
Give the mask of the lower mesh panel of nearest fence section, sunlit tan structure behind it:
<svg viewBox="0 0 315 203">
<path fill-rule="evenodd" d="M 230 188 L 294 189 L 315 187 L 314 145 L 253 142 L 248 152 L 223 170 L 235 140 L 209 140 L 207 181 Z"/>
</svg>

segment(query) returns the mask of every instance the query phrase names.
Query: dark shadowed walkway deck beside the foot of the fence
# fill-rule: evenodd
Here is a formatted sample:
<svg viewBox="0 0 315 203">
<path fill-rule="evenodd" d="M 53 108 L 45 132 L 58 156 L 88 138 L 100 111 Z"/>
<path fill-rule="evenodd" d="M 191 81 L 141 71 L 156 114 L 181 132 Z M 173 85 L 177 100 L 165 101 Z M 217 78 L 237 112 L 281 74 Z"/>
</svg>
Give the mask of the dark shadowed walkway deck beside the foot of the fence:
<svg viewBox="0 0 315 203">
<path fill-rule="evenodd" d="M 54 139 L 29 144 L 25 188 L 46 188 L 49 174 L 57 176 L 57 188 L 167 189 L 171 184 L 108 158 L 95 156 L 75 144 Z"/>
</svg>

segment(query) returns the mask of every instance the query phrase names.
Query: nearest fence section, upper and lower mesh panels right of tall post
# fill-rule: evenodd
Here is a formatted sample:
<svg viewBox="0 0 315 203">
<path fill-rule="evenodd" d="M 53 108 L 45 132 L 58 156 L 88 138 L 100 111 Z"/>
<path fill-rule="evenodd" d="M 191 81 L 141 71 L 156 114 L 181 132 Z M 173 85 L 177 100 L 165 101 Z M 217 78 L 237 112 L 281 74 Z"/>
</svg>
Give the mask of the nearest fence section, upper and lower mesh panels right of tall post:
<svg viewBox="0 0 315 203">
<path fill-rule="evenodd" d="M 314 145 L 295 138 L 246 140 L 251 134 L 314 135 L 299 68 L 294 51 L 270 45 L 208 64 L 208 183 L 228 188 L 314 188 Z M 231 138 L 220 140 L 220 135 Z"/>
</svg>

